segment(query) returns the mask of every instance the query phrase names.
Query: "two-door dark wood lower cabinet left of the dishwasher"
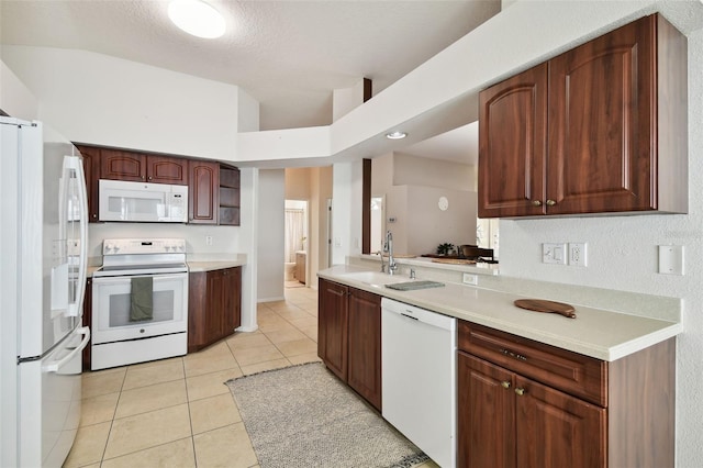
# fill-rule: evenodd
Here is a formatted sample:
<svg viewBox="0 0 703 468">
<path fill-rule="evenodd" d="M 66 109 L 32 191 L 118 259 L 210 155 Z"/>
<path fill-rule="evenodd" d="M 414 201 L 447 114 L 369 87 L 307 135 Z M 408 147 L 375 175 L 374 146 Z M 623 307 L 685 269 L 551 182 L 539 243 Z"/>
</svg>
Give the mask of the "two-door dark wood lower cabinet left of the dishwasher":
<svg viewBox="0 0 703 468">
<path fill-rule="evenodd" d="M 381 297 L 320 278 L 317 355 L 381 410 Z"/>
</svg>

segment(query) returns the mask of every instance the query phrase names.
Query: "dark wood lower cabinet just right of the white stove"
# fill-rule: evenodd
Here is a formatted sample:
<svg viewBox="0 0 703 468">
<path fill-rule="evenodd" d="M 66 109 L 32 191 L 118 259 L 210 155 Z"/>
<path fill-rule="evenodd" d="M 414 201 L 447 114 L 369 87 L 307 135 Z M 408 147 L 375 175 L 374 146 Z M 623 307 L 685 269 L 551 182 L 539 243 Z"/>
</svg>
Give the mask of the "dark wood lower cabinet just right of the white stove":
<svg viewBox="0 0 703 468">
<path fill-rule="evenodd" d="M 190 272 L 188 353 L 198 352 L 242 325 L 242 268 Z"/>
</svg>

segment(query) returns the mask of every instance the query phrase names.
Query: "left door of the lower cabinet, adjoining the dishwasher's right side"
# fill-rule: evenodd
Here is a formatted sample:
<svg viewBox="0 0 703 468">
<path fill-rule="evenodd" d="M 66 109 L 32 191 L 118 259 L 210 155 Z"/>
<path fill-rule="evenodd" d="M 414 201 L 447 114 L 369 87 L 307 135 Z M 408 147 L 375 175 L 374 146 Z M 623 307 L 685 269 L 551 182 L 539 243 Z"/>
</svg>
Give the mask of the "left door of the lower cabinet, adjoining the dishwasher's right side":
<svg viewBox="0 0 703 468">
<path fill-rule="evenodd" d="M 513 374 L 465 353 L 457 372 L 457 466 L 514 468 Z"/>
</svg>

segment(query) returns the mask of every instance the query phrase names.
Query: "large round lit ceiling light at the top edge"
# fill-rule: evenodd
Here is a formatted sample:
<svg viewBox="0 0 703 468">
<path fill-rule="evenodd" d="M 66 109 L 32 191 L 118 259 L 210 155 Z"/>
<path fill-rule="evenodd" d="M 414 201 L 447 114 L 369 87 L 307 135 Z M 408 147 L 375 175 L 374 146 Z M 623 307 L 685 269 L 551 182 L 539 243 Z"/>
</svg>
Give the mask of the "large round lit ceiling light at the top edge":
<svg viewBox="0 0 703 468">
<path fill-rule="evenodd" d="M 215 38 L 224 34 L 224 18 L 204 1 L 172 0 L 168 4 L 168 18 L 178 27 L 198 37 Z"/>
</svg>

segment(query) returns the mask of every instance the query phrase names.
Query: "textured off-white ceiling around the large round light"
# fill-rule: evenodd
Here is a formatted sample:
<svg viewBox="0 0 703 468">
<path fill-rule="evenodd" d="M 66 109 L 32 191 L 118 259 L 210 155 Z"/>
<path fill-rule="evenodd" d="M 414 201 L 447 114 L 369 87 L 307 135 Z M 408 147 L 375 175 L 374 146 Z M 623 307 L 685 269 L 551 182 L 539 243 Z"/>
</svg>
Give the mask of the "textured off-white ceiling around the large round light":
<svg viewBox="0 0 703 468">
<path fill-rule="evenodd" d="M 330 124 L 332 90 L 366 77 L 377 94 L 500 10 L 500 0 L 210 2 L 227 22 L 217 40 L 178 30 L 165 0 L 0 0 L 0 40 L 238 85 L 259 101 L 261 130 L 278 130 Z"/>
</svg>

